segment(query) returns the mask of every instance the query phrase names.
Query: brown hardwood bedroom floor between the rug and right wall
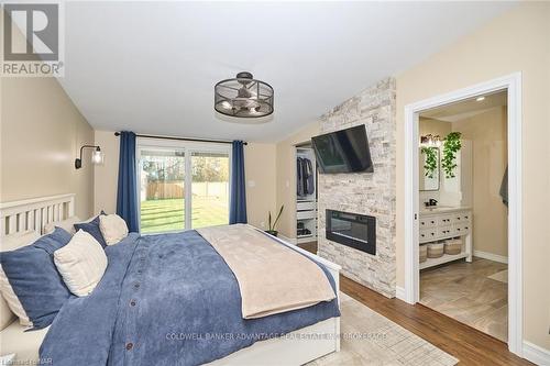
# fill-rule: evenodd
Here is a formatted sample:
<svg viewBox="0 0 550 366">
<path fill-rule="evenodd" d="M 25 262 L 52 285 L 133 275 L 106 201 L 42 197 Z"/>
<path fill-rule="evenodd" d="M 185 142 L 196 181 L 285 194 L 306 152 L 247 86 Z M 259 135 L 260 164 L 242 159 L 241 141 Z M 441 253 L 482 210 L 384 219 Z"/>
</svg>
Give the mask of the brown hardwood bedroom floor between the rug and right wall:
<svg viewBox="0 0 550 366">
<path fill-rule="evenodd" d="M 317 252 L 317 245 L 305 248 Z M 340 277 L 340 290 L 459 358 L 459 365 L 532 365 L 508 352 L 506 343 L 422 304 L 388 299 L 344 276 Z"/>
</svg>

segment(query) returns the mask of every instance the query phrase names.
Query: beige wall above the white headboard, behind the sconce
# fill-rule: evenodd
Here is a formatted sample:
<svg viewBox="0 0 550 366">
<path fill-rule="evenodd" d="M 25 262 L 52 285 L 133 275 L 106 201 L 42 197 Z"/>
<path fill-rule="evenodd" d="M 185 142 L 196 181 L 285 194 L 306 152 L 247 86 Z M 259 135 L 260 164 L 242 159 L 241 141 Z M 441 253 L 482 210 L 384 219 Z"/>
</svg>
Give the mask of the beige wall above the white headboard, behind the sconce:
<svg viewBox="0 0 550 366">
<path fill-rule="evenodd" d="M 55 78 L 2 78 L 0 201 L 76 193 L 76 214 L 94 210 L 94 166 L 80 146 L 94 130 Z"/>
</svg>

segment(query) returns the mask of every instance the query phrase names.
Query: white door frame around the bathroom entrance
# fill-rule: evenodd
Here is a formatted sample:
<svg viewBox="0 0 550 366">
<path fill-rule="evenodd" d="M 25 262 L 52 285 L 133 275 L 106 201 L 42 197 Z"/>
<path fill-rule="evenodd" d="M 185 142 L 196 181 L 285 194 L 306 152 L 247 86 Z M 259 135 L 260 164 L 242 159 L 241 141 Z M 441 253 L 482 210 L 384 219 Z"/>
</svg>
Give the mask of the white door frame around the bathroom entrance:
<svg viewBox="0 0 550 366">
<path fill-rule="evenodd" d="M 418 115 L 421 111 L 486 95 L 508 92 L 508 348 L 522 355 L 521 270 L 521 73 L 477 84 L 405 107 L 405 301 L 419 301 Z"/>
</svg>

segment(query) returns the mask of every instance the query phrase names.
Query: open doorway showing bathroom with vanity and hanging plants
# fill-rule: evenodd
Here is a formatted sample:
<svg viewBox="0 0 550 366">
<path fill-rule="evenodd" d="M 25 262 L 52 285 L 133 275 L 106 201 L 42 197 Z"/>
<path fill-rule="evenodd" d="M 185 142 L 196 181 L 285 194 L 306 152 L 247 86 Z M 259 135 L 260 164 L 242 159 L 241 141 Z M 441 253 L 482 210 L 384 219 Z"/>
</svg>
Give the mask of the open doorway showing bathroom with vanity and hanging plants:
<svg viewBox="0 0 550 366">
<path fill-rule="evenodd" d="M 507 342 L 507 91 L 419 114 L 419 302 Z"/>
</svg>

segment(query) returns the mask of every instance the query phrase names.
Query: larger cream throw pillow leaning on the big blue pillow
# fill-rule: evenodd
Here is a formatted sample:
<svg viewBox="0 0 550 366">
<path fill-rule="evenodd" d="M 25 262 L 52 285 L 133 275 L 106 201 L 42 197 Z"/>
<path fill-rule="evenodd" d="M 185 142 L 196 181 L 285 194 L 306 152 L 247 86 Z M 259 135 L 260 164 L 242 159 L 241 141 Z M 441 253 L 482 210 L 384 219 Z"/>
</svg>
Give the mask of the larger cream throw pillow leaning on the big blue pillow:
<svg viewBox="0 0 550 366">
<path fill-rule="evenodd" d="M 88 296 L 103 277 L 107 256 L 94 236 L 79 230 L 67 245 L 54 252 L 54 263 L 70 292 Z"/>
</svg>

